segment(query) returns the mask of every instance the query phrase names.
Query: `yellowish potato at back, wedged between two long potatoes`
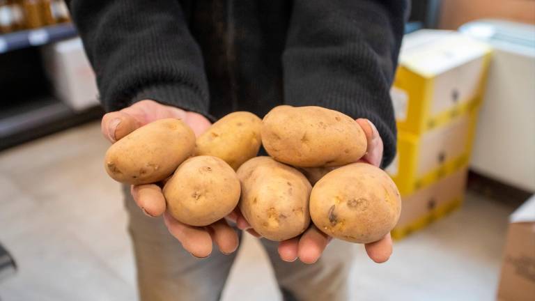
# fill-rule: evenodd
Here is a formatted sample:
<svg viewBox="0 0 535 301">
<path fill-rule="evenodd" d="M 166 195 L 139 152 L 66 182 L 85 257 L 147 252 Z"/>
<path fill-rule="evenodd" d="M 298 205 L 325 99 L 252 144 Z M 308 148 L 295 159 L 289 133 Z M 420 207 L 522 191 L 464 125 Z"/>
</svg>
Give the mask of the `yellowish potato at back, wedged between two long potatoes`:
<svg viewBox="0 0 535 301">
<path fill-rule="evenodd" d="M 261 146 L 262 121 L 255 114 L 238 111 L 214 123 L 197 138 L 196 155 L 212 155 L 234 170 L 255 157 Z"/>
</svg>

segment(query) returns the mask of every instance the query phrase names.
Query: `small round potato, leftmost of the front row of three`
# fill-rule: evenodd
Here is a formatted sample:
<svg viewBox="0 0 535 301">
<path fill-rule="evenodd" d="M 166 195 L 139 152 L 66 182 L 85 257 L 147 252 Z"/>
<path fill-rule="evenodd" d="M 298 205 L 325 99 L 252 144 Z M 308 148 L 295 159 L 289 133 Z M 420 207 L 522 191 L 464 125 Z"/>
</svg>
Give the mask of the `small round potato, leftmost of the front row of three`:
<svg viewBox="0 0 535 301">
<path fill-rule="evenodd" d="M 179 222 L 208 226 L 226 217 L 240 200 L 240 180 L 218 157 L 191 157 L 164 186 L 168 212 Z"/>
</svg>

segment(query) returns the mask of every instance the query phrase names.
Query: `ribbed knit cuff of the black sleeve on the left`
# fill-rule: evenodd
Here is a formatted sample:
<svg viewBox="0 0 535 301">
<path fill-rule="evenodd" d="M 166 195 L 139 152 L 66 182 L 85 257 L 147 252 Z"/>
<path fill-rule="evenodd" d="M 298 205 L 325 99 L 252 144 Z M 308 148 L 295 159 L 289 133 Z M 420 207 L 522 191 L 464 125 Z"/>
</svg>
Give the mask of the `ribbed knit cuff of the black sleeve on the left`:
<svg viewBox="0 0 535 301">
<path fill-rule="evenodd" d="M 214 122 L 215 118 L 208 114 L 208 100 L 203 98 L 189 86 L 176 84 L 157 84 L 141 89 L 132 98 L 130 105 L 141 100 L 154 100 L 162 105 L 178 107 L 185 111 L 202 114 Z"/>
</svg>

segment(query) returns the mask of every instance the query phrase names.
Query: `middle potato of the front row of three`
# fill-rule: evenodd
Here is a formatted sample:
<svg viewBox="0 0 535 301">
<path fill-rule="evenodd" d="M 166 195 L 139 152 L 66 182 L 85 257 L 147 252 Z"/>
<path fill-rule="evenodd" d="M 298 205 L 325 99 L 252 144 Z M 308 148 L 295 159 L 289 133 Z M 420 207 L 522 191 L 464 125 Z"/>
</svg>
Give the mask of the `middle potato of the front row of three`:
<svg viewBox="0 0 535 301">
<path fill-rule="evenodd" d="M 240 210 L 261 236 L 286 240 L 308 228 L 312 187 L 297 169 L 270 157 L 255 157 L 238 169 L 238 178 Z"/>
</svg>

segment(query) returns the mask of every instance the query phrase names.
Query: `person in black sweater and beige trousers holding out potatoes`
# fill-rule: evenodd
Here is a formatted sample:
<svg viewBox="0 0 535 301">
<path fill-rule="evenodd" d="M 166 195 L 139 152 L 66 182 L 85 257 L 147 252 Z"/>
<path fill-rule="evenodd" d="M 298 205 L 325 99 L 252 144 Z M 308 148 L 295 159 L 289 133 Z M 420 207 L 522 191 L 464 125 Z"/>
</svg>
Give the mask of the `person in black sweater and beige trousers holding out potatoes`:
<svg viewBox="0 0 535 301">
<path fill-rule="evenodd" d="M 408 5 L 68 1 L 109 112 L 102 134 L 111 142 L 160 118 L 182 118 L 201 134 L 231 111 L 262 117 L 277 105 L 316 105 L 357 118 L 369 140 L 364 160 L 380 167 L 396 151 L 389 87 Z M 226 219 L 207 227 L 181 224 L 165 213 L 155 184 L 125 187 L 125 196 L 141 300 L 217 300 L 241 231 Z M 256 234 L 239 212 L 228 220 Z M 351 244 L 327 247 L 330 240 L 314 226 L 299 238 L 261 240 L 286 300 L 348 298 Z M 366 245 L 366 252 L 373 261 L 387 261 L 390 236 Z"/>
</svg>

